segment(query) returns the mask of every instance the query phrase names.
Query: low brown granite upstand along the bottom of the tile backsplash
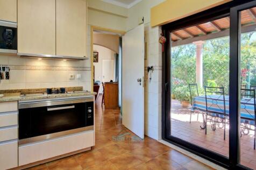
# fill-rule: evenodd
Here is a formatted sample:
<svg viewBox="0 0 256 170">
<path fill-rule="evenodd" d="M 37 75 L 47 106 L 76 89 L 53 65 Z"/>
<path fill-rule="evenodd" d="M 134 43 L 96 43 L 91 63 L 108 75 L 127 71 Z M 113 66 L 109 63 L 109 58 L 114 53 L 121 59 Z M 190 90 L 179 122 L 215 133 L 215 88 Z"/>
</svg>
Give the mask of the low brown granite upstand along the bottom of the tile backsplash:
<svg viewBox="0 0 256 170">
<path fill-rule="evenodd" d="M 56 87 L 60 88 L 60 87 Z M 82 86 L 77 87 L 65 87 L 66 91 L 82 91 Z M 46 92 L 46 88 L 28 88 L 28 89 L 17 89 L 17 90 L 0 90 L 0 94 L 3 93 L 26 93 L 26 94 L 33 94 L 36 92 Z"/>
</svg>

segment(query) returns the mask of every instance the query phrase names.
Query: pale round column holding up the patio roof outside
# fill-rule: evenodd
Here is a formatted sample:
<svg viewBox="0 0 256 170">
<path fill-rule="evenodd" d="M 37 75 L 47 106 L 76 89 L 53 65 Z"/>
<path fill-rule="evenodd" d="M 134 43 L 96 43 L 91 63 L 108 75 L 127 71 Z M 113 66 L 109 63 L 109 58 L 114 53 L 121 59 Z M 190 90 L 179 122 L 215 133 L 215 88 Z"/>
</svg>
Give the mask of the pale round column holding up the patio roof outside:
<svg viewBox="0 0 256 170">
<path fill-rule="evenodd" d="M 204 41 L 193 42 L 196 45 L 196 83 L 203 87 L 203 44 Z"/>
</svg>

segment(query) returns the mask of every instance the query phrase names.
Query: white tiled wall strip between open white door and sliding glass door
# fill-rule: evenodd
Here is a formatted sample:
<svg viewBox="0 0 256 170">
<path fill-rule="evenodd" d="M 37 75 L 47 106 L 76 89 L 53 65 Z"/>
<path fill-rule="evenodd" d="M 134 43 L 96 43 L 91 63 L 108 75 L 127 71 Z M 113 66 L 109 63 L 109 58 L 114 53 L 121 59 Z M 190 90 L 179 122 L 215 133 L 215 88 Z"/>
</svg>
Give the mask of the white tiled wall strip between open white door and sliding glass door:
<svg viewBox="0 0 256 170">
<path fill-rule="evenodd" d="M 148 23 L 150 24 L 150 23 Z M 162 53 L 159 37 L 160 27 L 151 28 L 145 25 L 145 41 L 147 42 L 147 60 L 145 66 L 154 66 L 154 71 L 145 82 L 145 134 L 154 139 L 161 139 L 161 91 L 162 91 Z M 145 73 L 146 76 L 146 73 Z"/>
</svg>

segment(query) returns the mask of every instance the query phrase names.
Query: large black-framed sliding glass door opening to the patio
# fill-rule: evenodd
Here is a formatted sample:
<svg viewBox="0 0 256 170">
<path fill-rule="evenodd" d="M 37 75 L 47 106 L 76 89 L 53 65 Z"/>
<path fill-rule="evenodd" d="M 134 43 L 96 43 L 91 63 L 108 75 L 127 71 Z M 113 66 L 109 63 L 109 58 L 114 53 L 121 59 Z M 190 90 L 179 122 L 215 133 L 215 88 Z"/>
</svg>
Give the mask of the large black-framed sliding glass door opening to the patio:
<svg viewBox="0 0 256 170">
<path fill-rule="evenodd" d="M 256 169 L 256 2 L 246 2 L 163 26 L 163 139 L 230 169 Z"/>
</svg>

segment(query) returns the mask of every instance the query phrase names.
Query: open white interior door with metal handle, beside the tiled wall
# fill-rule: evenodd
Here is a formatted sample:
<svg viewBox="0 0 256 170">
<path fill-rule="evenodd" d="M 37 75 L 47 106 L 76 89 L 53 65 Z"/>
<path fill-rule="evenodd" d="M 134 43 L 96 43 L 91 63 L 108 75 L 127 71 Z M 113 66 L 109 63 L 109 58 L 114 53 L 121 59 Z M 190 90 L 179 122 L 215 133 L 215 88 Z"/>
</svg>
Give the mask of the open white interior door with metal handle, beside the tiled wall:
<svg viewBox="0 0 256 170">
<path fill-rule="evenodd" d="M 144 25 L 123 36 L 123 125 L 144 138 Z"/>
</svg>

